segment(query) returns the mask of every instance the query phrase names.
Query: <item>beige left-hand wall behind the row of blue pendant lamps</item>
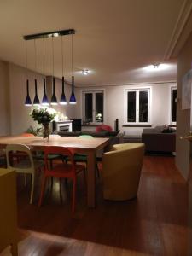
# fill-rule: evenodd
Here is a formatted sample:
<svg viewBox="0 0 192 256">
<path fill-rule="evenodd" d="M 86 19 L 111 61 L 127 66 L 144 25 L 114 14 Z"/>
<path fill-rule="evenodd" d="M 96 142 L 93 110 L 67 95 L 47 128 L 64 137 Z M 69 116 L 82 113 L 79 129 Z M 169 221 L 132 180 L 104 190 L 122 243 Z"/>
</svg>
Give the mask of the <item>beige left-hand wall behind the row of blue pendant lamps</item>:
<svg viewBox="0 0 192 256">
<path fill-rule="evenodd" d="M 34 98 L 34 79 L 38 79 L 38 96 L 41 101 L 43 97 L 43 76 L 28 71 L 30 96 Z M 51 85 L 51 84 L 50 84 Z M 50 89 L 51 90 L 51 89 Z M 66 84 L 65 93 L 67 100 L 71 93 L 71 85 Z M 55 94 L 57 100 L 61 96 L 61 80 L 55 79 Z M 32 108 L 25 107 L 26 99 L 26 69 L 0 61 L 0 136 L 20 134 L 29 128 L 30 125 L 38 127 L 29 113 Z M 69 119 L 75 118 L 74 105 L 55 106 L 55 110 L 67 115 Z"/>
</svg>

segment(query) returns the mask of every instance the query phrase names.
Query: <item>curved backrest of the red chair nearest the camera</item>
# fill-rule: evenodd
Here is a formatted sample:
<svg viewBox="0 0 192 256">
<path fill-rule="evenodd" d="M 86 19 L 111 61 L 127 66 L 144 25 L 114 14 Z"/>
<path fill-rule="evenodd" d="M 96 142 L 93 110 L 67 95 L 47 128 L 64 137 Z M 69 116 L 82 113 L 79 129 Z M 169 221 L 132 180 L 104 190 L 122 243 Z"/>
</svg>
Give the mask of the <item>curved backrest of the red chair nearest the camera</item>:
<svg viewBox="0 0 192 256">
<path fill-rule="evenodd" d="M 49 160 L 48 160 L 48 154 L 62 154 L 68 157 L 68 159 L 71 161 L 71 164 L 73 166 L 73 170 L 75 167 L 75 162 L 73 159 L 73 150 L 65 147 L 59 147 L 59 146 L 49 146 L 46 147 L 44 150 L 44 163 L 47 170 L 49 170 Z"/>
</svg>

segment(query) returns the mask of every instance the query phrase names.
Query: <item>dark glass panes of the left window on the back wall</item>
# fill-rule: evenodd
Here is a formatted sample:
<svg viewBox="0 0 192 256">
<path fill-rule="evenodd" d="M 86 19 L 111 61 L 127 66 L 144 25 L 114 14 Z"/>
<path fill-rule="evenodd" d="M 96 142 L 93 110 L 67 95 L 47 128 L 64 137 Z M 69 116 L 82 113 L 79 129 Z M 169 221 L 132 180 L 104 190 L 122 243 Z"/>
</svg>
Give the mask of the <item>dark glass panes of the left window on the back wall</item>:
<svg viewBox="0 0 192 256">
<path fill-rule="evenodd" d="M 83 122 L 103 122 L 103 90 L 83 91 Z"/>
</svg>

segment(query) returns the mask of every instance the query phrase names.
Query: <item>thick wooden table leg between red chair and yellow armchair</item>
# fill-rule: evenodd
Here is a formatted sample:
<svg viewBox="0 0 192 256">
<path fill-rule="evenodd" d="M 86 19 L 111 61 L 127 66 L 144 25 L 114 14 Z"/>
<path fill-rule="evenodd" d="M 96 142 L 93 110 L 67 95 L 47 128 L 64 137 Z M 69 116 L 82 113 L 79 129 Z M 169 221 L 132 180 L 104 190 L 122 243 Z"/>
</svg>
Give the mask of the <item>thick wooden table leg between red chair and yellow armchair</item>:
<svg viewBox="0 0 192 256">
<path fill-rule="evenodd" d="M 89 152 L 87 155 L 87 204 L 96 207 L 96 154 Z"/>
</svg>

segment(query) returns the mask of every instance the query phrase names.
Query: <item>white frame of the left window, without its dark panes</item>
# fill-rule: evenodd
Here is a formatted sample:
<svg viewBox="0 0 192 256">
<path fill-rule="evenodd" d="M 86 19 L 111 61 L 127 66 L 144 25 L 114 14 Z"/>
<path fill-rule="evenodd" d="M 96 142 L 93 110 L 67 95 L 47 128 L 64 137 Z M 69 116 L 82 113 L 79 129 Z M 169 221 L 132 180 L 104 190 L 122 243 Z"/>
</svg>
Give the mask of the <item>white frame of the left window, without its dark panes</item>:
<svg viewBox="0 0 192 256">
<path fill-rule="evenodd" d="M 91 93 L 93 95 L 93 101 L 92 101 L 92 114 L 93 114 L 93 121 L 89 123 L 89 125 L 102 125 L 105 120 L 105 90 L 100 88 L 100 89 L 87 89 L 87 90 L 81 90 L 81 102 L 82 102 L 82 113 L 81 113 L 81 118 L 82 118 L 82 123 L 84 123 L 85 119 L 85 94 Z M 103 94 L 103 118 L 102 122 L 96 122 L 96 93 L 102 93 Z"/>
</svg>

